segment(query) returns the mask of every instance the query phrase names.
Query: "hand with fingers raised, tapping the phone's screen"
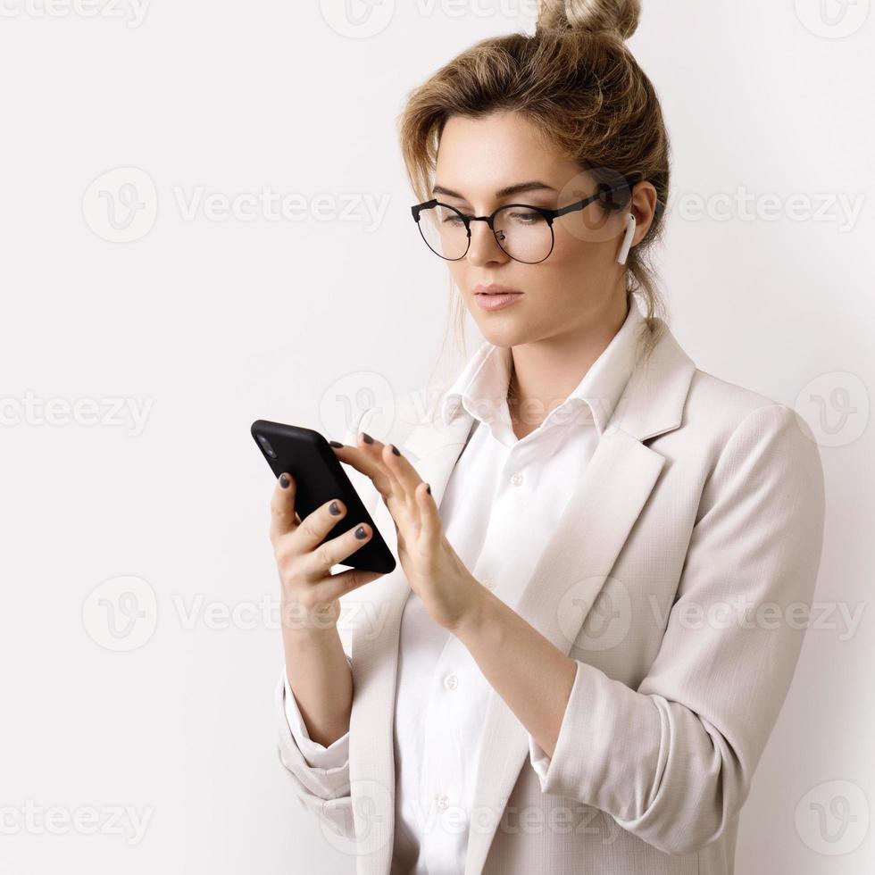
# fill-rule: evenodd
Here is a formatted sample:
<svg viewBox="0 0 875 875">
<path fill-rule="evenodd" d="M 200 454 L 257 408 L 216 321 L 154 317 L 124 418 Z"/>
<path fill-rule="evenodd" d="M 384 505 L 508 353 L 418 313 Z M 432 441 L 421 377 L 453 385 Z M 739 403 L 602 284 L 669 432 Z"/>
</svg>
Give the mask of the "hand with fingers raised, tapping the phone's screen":
<svg viewBox="0 0 875 875">
<path fill-rule="evenodd" d="M 456 631 L 476 610 L 483 587 L 444 535 L 437 504 L 395 446 L 359 432 L 357 446 L 334 447 L 341 462 L 369 477 L 382 496 L 398 539 L 398 559 L 413 592 L 439 626 Z M 369 436 L 370 437 L 370 436 Z"/>
</svg>

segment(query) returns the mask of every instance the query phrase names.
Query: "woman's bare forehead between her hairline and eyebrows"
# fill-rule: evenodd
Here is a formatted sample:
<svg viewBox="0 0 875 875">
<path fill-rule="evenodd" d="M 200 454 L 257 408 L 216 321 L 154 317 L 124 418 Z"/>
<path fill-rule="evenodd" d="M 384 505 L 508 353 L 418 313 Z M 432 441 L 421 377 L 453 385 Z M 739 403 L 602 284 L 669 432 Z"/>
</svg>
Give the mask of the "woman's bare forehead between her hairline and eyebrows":
<svg viewBox="0 0 875 875">
<path fill-rule="evenodd" d="M 579 165 L 557 154 L 531 122 L 503 112 L 446 121 L 435 181 L 466 196 L 488 196 L 522 179 L 542 179 L 558 188 L 579 172 Z"/>
</svg>

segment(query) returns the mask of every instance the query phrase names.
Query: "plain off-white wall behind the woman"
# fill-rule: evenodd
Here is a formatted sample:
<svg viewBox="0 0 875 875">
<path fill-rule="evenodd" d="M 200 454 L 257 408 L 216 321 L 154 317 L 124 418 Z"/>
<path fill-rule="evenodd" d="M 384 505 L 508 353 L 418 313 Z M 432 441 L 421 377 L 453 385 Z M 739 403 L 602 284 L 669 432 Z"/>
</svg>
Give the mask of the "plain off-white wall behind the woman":
<svg viewBox="0 0 875 875">
<path fill-rule="evenodd" d="M 0 875 L 352 872 L 277 759 L 279 631 L 257 611 L 211 624 L 206 607 L 278 595 L 250 423 L 341 437 L 351 385 L 401 393 L 446 361 L 446 268 L 412 224 L 396 116 L 475 40 L 531 32 L 533 4 L 384 0 L 356 28 L 314 0 L 154 0 L 141 21 L 130 0 L 106 2 L 92 16 L 0 0 Z M 629 43 L 671 134 L 675 336 L 822 437 L 815 597 L 830 612 L 742 815 L 746 875 L 870 871 L 875 844 L 869 7 L 842 17 L 827 0 L 830 24 L 820 0 L 645 0 Z M 130 189 L 104 177 L 120 167 L 142 171 L 126 171 L 144 204 L 127 232 L 99 194 L 126 214 Z M 198 191 L 265 188 L 301 198 L 304 218 L 186 212 Z M 745 192 L 753 215 L 721 205 Z M 318 212 L 317 195 L 357 202 L 353 220 Z M 793 196 L 821 215 L 793 212 Z M 365 197 L 386 204 L 375 227 Z M 689 198 L 712 206 L 682 214 Z M 113 239 L 125 233 L 142 236 Z M 145 423 L 107 420 L 115 398 Z M 113 582 L 126 576 L 139 581 Z M 119 639 L 97 599 L 128 591 L 144 616 Z M 863 610 L 855 629 L 842 606 Z M 57 834 L 26 823 L 28 804 L 94 809 L 101 825 Z M 112 806 L 151 818 L 136 843 Z"/>
</svg>

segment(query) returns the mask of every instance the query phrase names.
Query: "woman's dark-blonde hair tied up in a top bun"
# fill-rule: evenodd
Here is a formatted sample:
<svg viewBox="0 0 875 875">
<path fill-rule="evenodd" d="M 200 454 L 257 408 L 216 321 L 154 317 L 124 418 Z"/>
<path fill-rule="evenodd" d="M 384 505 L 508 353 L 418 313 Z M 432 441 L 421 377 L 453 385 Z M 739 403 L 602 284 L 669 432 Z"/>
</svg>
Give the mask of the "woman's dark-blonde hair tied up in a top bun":
<svg viewBox="0 0 875 875">
<path fill-rule="evenodd" d="M 628 206 L 631 187 L 651 182 L 657 212 L 626 264 L 627 301 L 632 304 L 633 293 L 643 298 L 649 353 L 667 317 L 649 255 L 662 238 L 670 168 L 659 98 L 624 43 L 637 29 L 640 12 L 640 0 L 541 0 L 533 36 L 490 37 L 457 55 L 408 95 L 398 128 L 407 176 L 420 201 L 432 197 L 437 146 L 454 115 L 518 112 L 596 180 L 608 169 L 606 181 L 614 185 L 619 174 L 628 188 L 619 200 L 601 199 L 604 211 Z M 455 304 L 456 339 L 463 348 L 461 296 Z"/>
</svg>

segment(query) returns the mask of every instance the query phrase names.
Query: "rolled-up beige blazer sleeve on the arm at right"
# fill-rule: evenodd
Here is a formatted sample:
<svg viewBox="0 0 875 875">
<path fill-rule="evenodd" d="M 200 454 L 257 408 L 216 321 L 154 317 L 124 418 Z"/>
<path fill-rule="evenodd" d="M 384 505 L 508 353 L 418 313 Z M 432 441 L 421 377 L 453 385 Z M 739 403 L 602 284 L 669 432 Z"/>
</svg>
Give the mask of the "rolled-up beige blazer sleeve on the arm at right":
<svg viewBox="0 0 875 875">
<path fill-rule="evenodd" d="M 578 660 L 553 757 L 529 734 L 542 790 L 607 812 L 667 854 L 721 837 L 796 670 L 823 521 L 808 424 L 784 404 L 749 412 L 705 483 L 646 678 L 634 690 Z"/>
</svg>

